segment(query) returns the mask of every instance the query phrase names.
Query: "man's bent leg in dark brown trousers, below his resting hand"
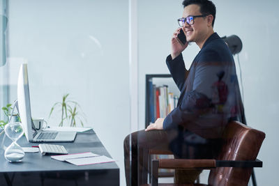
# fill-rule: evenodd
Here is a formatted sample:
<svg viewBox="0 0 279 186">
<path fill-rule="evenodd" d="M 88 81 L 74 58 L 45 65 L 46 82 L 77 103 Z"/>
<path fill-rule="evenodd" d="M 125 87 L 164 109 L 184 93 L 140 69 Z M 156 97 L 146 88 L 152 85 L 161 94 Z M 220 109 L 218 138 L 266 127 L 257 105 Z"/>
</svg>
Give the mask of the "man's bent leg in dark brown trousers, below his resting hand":
<svg viewBox="0 0 279 186">
<path fill-rule="evenodd" d="M 143 164 L 144 149 L 169 150 L 168 146 L 167 133 L 164 130 L 151 130 L 148 132 L 140 130 L 129 134 L 124 140 L 127 185 L 135 186 L 147 181 L 142 180 L 141 175 L 144 169 L 148 169 L 147 161 L 144 161 L 146 164 Z"/>
</svg>

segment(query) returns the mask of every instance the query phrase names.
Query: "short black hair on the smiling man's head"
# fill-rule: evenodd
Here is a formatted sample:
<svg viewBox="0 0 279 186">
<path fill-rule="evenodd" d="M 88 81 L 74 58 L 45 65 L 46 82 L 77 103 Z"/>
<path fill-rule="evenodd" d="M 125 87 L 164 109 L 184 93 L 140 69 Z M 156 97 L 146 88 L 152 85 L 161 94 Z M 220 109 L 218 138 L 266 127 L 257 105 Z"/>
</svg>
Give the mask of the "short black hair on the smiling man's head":
<svg viewBox="0 0 279 186">
<path fill-rule="evenodd" d="M 204 15 L 204 14 L 213 15 L 213 21 L 212 21 L 212 27 L 213 27 L 214 22 L 215 22 L 215 17 L 216 17 L 216 6 L 214 5 L 214 3 L 209 0 L 184 0 L 182 3 L 184 8 L 191 4 L 198 5 L 202 15 Z"/>
</svg>

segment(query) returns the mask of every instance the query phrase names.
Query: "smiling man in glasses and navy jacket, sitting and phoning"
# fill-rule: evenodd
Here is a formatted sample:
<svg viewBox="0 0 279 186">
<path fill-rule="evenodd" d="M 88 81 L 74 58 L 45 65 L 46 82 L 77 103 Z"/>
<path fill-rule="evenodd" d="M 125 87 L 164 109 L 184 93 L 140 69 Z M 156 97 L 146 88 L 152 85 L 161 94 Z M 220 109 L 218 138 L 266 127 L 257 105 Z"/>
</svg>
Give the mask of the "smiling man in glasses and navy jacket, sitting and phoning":
<svg viewBox="0 0 279 186">
<path fill-rule="evenodd" d="M 208 0 L 184 0 L 183 6 L 183 17 L 178 20 L 181 28 L 174 32 L 172 52 L 167 56 L 167 67 L 181 91 L 179 102 L 166 118 L 158 118 L 146 130 L 126 137 L 127 185 L 144 182 L 137 178 L 146 166 L 142 164 L 143 148 L 172 150 L 176 158 L 216 157 L 227 122 L 241 121 L 243 107 L 234 59 L 226 43 L 213 31 L 216 7 Z M 181 29 L 187 38 L 185 45 L 178 38 Z M 195 42 L 200 51 L 186 70 L 181 52 L 188 42 Z M 132 180 L 128 173 L 130 143 Z M 176 171 L 176 181 L 193 183 L 200 172 Z"/>
</svg>

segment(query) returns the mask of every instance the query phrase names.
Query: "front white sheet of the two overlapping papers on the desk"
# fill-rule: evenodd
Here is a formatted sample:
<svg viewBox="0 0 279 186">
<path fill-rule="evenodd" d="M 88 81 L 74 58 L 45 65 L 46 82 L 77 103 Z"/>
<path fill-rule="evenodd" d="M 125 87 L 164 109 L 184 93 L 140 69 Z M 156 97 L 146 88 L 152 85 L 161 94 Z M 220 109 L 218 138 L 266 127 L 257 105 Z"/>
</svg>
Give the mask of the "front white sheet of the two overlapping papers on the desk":
<svg viewBox="0 0 279 186">
<path fill-rule="evenodd" d="M 115 160 L 112 160 L 112 158 L 106 157 L 105 155 L 100 155 L 96 157 L 82 157 L 76 159 L 67 159 L 66 162 L 75 165 L 86 165 L 86 164 L 103 164 L 108 162 L 115 162 Z"/>
</svg>

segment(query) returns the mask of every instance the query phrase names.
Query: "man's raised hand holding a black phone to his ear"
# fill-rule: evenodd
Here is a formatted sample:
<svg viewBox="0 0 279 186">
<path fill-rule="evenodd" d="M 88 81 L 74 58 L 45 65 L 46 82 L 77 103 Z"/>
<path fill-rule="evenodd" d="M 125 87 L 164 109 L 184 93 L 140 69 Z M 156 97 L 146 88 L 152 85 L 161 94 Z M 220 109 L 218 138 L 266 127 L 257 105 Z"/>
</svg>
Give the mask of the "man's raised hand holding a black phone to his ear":
<svg viewBox="0 0 279 186">
<path fill-rule="evenodd" d="M 176 29 L 172 35 L 172 59 L 175 59 L 181 52 L 186 49 L 188 42 L 182 28 Z"/>
</svg>

